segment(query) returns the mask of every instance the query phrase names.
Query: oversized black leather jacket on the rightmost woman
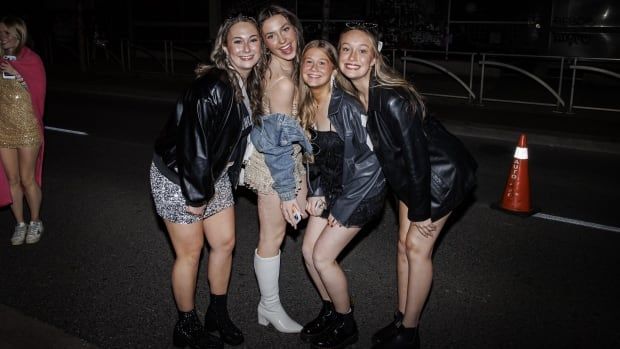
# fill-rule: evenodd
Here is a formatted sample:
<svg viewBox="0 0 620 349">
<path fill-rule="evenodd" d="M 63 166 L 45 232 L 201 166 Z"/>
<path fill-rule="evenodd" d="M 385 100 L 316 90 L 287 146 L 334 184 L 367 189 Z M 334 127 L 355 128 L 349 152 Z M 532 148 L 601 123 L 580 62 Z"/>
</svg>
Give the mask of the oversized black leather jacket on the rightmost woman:
<svg viewBox="0 0 620 349">
<path fill-rule="evenodd" d="M 387 181 L 411 221 L 452 211 L 475 185 L 476 162 L 464 145 L 399 87 L 371 80 L 368 133 Z"/>
</svg>

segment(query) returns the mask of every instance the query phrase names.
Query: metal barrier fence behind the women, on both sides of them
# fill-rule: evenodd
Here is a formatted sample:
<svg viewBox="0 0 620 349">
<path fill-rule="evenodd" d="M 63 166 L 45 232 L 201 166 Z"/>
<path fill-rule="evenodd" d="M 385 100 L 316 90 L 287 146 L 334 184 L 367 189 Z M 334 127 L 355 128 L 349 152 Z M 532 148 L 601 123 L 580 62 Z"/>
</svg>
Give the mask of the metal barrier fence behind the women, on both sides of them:
<svg viewBox="0 0 620 349">
<path fill-rule="evenodd" d="M 51 47 L 48 62 L 53 64 L 55 55 Z M 67 52 L 64 47 L 58 47 L 60 50 Z M 208 60 L 210 43 L 122 40 L 118 51 L 111 45 L 87 45 L 87 57 L 93 57 L 93 61 L 97 51 L 103 51 L 106 60 L 124 72 L 192 74 L 196 63 Z M 562 113 L 578 109 L 620 112 L 617 93 L 611 92 L 620 88 L 620 59 L 400 49 L 384 50 L 383 54 L 391 59 L 396 70 L 400 65 L 405 79 L 415 82 L 412 68 L 424 66 L 435 76 L 439 73 L 448 78 L 446 81 L 456 82 L 463 91 L 421 90 L 428 96 L 466 99 L 479 105 L 499 102 L 552 107 Z M 542 88 L 543 93 L 536 92 L 536 88 Z M 498 96 L 500 93 L 504 95 Z"/>
</svg>

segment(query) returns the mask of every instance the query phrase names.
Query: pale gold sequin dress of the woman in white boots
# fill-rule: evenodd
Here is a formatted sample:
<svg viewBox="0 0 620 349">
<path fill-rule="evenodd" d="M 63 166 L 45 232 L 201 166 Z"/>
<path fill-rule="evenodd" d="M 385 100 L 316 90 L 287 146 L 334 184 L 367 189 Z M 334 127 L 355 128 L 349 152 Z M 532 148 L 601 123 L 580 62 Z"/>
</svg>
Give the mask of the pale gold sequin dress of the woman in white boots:
<svg viewBox="0 0 620 349">
<path fill-rule="evenodd" d="M 266 94 L 267 91 L 265 91 Z M 263 98 L 265 101 L 265 98 Z M 271 114 L 269 105 L 263 102 L 263 110 L 266 115 Z M 293 102 L 292 117 L 297 118 L 297 101 Z M 295 161 L 295 183 L 297 192 L 301 190 L 302 181 L 306 180 L 306 168 L 303 164 L 303 154 L 301 145 L 293 144 L 293 159 Z M 245 185 L 247 188 L 260 194 L 275 194 L 273 189 L 273 178 L 271 172 L 265 163 L 265 155 L 256 149 L 245 163 Z"/>
</svg>

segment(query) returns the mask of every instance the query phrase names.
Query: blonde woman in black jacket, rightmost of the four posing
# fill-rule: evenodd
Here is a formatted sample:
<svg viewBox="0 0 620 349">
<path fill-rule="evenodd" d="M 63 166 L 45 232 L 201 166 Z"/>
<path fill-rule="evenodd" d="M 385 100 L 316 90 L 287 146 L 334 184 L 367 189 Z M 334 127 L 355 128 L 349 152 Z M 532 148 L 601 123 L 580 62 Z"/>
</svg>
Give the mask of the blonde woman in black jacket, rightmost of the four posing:
<svg viewBox="0 0 620 349">
<path fill-rule="evenodd" d="M 411 84 L 384 62 L 369 25 L 340 35 L 339 68 L 368 112 L 368 133 L 399 200 L 398 312 L 373 336 L 375 348 L 417 348 L 433 278 L 432 252 L 450 213 L 471 191 L 476 164 L 426 112 Z"/>
</svg>

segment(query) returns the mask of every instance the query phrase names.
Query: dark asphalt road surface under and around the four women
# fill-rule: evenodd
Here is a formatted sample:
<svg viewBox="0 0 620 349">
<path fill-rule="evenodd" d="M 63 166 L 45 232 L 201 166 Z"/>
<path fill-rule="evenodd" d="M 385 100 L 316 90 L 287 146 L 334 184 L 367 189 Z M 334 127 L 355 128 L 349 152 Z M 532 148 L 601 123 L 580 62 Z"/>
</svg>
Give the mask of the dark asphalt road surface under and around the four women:
<svg viewBox="0 0 620 349">
<path fill-rule="evenodd" d="M 173 98 L 50 92 L 47 125 L 87 135 L 46 132 L 46 233 L 35 245 L 1 245 L 4 306 L 79 343 L 172 346 L 173 251 L 152 207 L 148 167 L 152 140 Z M 541 213 L 615 227 L 609 231 L 491 209 L 502 195 L 516 138 L 462 139 L 480 166 L 479 184 L 436 248 L 433 292 L 421 326 L 425 347 L 617 346 L 620 218 L 613 202 L 620 197 L 620 155 L 529 147 L 532 200 Z M 256 322 L 256 206 L 251 193 L 241 194 L 231 316 L 247 348 L 304 347 L 298 336 Z M 0 213 L 3 226 L 12 220 L 8 209 Z M 302 263 L 302 234 L 291 232 L 286 239 L 281 296 L 291 316 L 304 322 L 320 303 Z M 369 347 L 372 332 L 395 309 L 395 256 L 395 215 L 388 206 L 342 259 L 361 333 L 356 348 Z M 197 293 L 201 313 L 208 300 L 205 270 L 203 265 Z"/>
</svg>

